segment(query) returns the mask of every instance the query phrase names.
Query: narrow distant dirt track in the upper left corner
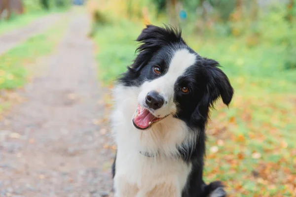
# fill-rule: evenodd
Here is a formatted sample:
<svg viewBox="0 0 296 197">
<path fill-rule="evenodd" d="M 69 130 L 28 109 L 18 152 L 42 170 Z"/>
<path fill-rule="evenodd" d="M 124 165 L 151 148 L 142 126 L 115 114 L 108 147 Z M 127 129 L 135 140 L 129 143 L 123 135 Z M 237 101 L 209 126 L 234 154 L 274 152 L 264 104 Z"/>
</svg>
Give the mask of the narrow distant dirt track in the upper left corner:
<svg viewBox="0 0 296 197">
<path fill-rule="evenodd" d="M 60 13 L 50 14 L 37 19 L 29 26 L 0 35 L 0 55 L 27 40 L 29 37 L 45 31 L 62 17 L 63 14 Z"/>
</svg>

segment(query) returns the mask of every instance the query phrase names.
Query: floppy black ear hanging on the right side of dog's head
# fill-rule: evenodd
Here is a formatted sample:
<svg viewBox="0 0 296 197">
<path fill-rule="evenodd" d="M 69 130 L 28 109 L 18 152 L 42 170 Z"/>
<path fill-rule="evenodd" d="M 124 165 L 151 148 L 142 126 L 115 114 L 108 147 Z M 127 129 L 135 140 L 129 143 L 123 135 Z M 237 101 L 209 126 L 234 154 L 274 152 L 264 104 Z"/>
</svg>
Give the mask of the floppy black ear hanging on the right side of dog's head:
<svg viewBox="0 0 296 197">
<path fill-rule="evenodd" d="M 204 65 L 208 68 L 208 90 L 211 105 L 219 97 L 222 98 L 224 104 L 228 105 L 233 96 L 233 88 L 230 85 L 228 77 L 219 68 L 220 65 L 215 60 L 204 59 Z"/>
</svg>

